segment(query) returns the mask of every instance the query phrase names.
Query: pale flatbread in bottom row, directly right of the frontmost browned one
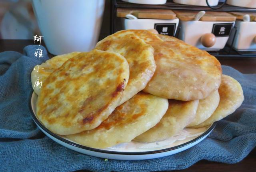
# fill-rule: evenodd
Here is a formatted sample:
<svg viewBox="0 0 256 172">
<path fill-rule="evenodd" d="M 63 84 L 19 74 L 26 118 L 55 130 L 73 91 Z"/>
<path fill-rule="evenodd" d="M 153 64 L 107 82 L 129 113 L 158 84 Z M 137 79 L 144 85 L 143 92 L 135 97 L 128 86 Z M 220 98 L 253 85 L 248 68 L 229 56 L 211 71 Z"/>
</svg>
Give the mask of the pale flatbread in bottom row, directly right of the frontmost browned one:
<svg viewBox="0 0 256 172">
<path fill-rule="evenodd" d="M 156 142 L 174 136 L 196 116 L 198 100 L 169 100 L 166 114 L 156 126 L 134 138 L 137 142 Z"/>
</svg>

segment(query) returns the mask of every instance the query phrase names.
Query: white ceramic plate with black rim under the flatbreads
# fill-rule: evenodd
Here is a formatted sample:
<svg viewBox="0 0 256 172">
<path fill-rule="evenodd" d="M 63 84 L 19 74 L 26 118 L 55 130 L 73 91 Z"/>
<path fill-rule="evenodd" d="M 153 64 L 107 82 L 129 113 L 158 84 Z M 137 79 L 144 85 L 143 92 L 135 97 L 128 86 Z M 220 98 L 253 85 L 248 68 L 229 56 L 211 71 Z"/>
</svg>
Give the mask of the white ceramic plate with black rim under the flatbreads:
<svg viewBox="0 0 256 172">
<path fill-rule="evenodd" d="M 204 138 L 206 138 L 216 126 L 216 123 L 214 123 L 211 126 L 204 128 L 185 128 L 176 136 L 159 142 L 139 143 L 132 141 L 129 143 L 118 144 L 110 148 L 96 149 L 82 146 L 76 142 L 73 142 L 72 140 L 69 140 L 68 138 L 65 138 L 64 136 L 54 134 L 45 128 L 35 115 L 36 101 L 37 95 L 35 92 L 33 92 L 30 104 L 32 118 L 38 128 L 40 128 L 40 130 L 42 130 L 46 136 L 71 150 L 100 158 L 116 160 L 145 160 L 176 154 L 191 148 L 192 146 L 204 140 Z"/>
</svg>

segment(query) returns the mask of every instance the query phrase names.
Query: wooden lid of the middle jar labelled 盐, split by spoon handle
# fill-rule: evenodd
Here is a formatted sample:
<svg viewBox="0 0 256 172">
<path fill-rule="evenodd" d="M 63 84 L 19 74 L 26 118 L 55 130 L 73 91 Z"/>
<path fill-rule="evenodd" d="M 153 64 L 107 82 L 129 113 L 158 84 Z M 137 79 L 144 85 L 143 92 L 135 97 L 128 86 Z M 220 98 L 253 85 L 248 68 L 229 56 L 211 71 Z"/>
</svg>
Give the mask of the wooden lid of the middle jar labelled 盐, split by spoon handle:
<svg viewBox="0 0 256 172">
<path fill-rule="evenodd" d="M 199 11 L 186 11 L 175 10 L 177 17 L 182 21 L 193 21 L 196 14 Z M 227 12 L 206 12 L 200 21 L 221 21 L 221 22 L 233 22 L 236 20 L 236 16 Z"/>
</svg>

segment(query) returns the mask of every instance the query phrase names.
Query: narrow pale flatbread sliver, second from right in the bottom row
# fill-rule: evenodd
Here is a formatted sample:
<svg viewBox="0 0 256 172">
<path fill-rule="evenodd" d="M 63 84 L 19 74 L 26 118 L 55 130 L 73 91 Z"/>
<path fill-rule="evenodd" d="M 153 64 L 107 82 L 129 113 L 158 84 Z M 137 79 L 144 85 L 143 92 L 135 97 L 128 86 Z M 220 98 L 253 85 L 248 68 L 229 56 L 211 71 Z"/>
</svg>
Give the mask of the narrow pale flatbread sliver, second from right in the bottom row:
<svg viewBox="0 0 256 172">
<path fill-rule="evenodd" d="M 208 97 L 199 100 L 198 108 L 196 110 L 196 117 L 187 127 L 196 126 L 210 118 L 218 107 L 219 102 L 220 95 L 218 90 L 212 92 Z"/>
</svg>

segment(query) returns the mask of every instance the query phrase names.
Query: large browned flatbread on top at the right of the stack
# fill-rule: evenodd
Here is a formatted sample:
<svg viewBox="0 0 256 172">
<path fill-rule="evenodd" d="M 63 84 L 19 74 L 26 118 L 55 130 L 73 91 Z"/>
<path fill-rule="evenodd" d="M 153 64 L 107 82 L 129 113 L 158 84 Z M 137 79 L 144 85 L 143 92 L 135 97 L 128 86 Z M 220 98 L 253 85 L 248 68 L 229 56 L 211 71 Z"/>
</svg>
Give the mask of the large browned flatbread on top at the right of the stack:
<svg viewBox="0 0 256 172">
<path fill-rule="evenodd" d="M 156 71 L 143 90 L 175 100 L 206 98 L 220 86 L 220 62 L 208 52 L 177 38 L 159 35 L 164 42 L 154 42 Z"/>
</svg>

